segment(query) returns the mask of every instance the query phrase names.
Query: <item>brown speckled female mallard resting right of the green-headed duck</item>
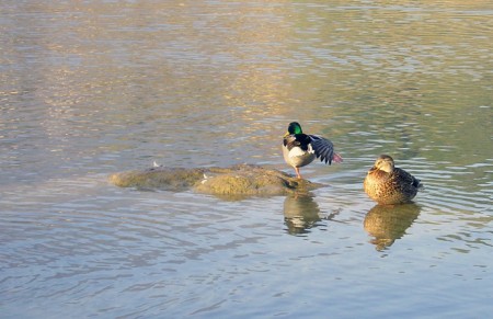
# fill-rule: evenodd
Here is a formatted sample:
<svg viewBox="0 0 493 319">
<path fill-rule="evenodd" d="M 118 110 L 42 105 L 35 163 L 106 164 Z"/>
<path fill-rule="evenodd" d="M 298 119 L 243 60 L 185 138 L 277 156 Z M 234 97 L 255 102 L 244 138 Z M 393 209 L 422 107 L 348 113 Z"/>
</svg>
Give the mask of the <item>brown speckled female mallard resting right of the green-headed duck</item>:
<svg viewBox="0 0 493 319">
<path fill-rule="evenodd" d="M 378 204 L 392 205 L 410 202 L 423 184 L 406 171 L 395 168 L 390 156 L 381 155 L 368 171 L 363 186 Z"/>
</svg>

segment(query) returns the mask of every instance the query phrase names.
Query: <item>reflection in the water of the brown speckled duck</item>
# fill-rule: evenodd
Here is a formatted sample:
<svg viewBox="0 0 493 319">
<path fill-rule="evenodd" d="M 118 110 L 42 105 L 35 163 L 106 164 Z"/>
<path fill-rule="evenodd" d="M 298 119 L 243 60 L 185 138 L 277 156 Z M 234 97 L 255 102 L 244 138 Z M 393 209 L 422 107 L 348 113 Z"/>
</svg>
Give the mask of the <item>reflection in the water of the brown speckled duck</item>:
<svg viewBox="0 0 493 319">
<path fill-rule="evenodd" d="M 416 204 L 376 205 L 365 217 L 365 230 L 375 238 L 370 241 L 378 251 L 390 247 L 420 215 Z"/>
</svg>

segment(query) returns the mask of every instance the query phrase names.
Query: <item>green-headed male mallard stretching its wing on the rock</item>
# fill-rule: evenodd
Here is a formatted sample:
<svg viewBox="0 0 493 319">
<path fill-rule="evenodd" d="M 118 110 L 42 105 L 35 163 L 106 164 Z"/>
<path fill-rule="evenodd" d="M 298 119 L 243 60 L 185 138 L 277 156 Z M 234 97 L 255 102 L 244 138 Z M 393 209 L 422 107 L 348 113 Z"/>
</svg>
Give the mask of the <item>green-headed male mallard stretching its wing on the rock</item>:
<svg viewBox="0 0 493 319">
<path fill-rule="evenodd" d="M 321 161 L 340 163 L 342 157 L 334 152 L 332 141 L 317 135 L 303 134 L 298 122 L 289 123 L 288 132 L 284 135 L 284 160 L 295 169 L 298 179 L 301 179 L 299 168 L 311 163 L 314 158 Z"/>
</svg>

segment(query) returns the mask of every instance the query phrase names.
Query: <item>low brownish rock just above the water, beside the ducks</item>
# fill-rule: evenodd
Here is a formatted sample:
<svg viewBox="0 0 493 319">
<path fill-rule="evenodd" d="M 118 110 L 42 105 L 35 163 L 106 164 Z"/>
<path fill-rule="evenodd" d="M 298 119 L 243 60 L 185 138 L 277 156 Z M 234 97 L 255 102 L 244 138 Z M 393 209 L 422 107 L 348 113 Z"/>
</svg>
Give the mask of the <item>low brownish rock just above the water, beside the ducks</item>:
<svg viewBox="0 0 493 319">
<path fill-rule="evenodd" d="M 230 168 L 151 168 L 112 174 L 110 182 L 121 187 L 176 192 L 193 189 L 198 193 L 240 197 L 284 195 L 320 186 L 278 170 L 252 164 Z"/>
</svg>

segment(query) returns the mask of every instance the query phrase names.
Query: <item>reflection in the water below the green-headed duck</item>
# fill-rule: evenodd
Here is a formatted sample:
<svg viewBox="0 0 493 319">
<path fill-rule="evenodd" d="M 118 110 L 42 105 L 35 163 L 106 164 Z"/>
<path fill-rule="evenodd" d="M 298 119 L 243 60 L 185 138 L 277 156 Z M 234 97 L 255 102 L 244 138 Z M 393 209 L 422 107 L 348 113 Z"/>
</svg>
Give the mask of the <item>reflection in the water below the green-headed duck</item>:
<svg viewBox="0 0 493 319">
<path fill-rule="evenodd" d="M 284 221 L 290 235 L 310 232 L 320 217 L 319 204 L 310 193 L 295 193 L 286 196 L 284 201 Z"/>
</svg>

